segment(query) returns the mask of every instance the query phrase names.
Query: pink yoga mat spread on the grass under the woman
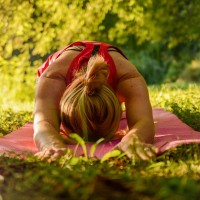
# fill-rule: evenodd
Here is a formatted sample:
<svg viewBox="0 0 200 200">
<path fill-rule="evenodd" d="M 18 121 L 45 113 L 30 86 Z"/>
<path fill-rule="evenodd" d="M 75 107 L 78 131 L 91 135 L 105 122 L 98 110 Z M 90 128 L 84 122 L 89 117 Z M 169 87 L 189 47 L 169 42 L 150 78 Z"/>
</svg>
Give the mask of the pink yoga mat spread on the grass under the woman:
<svg viewBox="0 0 200 200">
<path fill-rule="evenodd" d="M 200 132 L 194 131 L 184 124 L 176 115 L 163 109 L 153 109 L 154 122 L 156 127 L 155 146 L 160 148 L 160 153 L 181 144 L 200 143 Z M 122 118 L 120 128 L 126 127 L 126 119 Z M 99 144 L 94 156 L 101 159 L 105 153 L 111 151 L 120 139 Z M 68 145 L 76 155 L 83 155 L 81 146 Z M 92 144 L 87 144 L 87 152 L 90 152 Z M 13 151 L 23 154 L 25 152 L 36 153 L 38 150 L 33 141 L 33 124 L 27 123 L 16 131 L 0 137 L 0 154 Z"/>
</svg>

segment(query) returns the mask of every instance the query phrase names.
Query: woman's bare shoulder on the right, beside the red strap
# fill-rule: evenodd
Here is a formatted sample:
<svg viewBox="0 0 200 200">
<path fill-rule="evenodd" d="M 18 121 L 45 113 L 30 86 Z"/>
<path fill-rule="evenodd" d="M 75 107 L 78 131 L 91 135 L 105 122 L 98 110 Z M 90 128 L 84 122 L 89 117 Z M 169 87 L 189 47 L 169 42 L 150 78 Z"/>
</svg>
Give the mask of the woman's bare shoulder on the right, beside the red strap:
<svg viewBox="0 0 200 200">
<path fill-rule="evenodd" d="M 110 52 L 116 66 L 118 83 L 131 78 L 141 77 L 136 67 L 118 52 Z"/>
</svg>

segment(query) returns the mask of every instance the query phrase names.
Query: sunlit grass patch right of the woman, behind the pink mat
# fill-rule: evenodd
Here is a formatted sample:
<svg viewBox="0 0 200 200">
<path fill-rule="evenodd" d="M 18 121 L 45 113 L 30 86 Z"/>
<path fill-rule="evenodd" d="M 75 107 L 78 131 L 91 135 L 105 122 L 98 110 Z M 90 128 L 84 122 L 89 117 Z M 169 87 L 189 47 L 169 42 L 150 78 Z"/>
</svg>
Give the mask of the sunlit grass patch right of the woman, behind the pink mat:
<svg viewBox="0 0 200 200">
<path fill-rule="evenodd" d="M 165 84 L 149 88 L 153 107 L 175 113 L 183 122 L 200 131 L 200 86 L 198 84 Z"/>
</svg>

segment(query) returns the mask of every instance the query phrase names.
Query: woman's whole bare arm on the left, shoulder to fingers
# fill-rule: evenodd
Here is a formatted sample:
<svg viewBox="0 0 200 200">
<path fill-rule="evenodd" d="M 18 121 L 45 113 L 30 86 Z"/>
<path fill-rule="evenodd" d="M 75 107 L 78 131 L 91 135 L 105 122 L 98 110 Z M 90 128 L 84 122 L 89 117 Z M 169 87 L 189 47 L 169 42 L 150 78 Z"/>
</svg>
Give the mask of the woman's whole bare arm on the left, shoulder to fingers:
<svg viewBox="0 0 200 200">
<path fill-rule="evenodd" d="M 34 141 L 41 159 L 65 148 L 60 136 L 60 99 L 66 89 L 66 73 L 74 52 L 64 52 L 37 81 L 34 109 Z M 50 155 L 50 152 L 51 155 Z M 45 156 L 46 155 L 46 156 Z"/>
</svg>

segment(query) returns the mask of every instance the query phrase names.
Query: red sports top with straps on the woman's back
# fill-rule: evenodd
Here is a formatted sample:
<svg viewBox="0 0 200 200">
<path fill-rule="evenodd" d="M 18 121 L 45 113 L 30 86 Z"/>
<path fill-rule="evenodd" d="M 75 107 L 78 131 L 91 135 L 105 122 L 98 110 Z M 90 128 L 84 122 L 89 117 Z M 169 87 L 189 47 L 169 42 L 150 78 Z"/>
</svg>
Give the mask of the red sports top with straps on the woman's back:
<svg viewBox="0 0 200 200">
<path fill-rule="evenodd" d="M 110 44 L 102 43 L 102 42 L 96 42 L 96 41 L 83 41 L 83 42 L 74 42 L 65 48 L 53 53 L 48 57 L 48 59 L 42 64 L 41 67 L 39 67 L 37 75 L 38 77 L 41 76 L 41 74 L 45 71 L 45 69 L 53 63 L 64 51 L 66 51 L 69 47 L 72 46 L 84 46 L 84 49 L 74 58 L 74 60 L 71 62 L 69 70 L 67 72 L 67 85 L 70 84 L 73 81 L 74 78 L 74 71 L 78 71 L 81 69 L 82 66 L 84 66 L 85 63 L 88 62 L 90 57 L 94 55 L 95 53 L 101 55 L 105 61 L 107 62 L 109 66 L 109 76 L 108 76 L 108 82 L 109 85 L 116 90 L 117 88 L 117 71 L 115 63 L 112 59 L 112 57 L 108 53 L 108 48 L 113 48 L 117 52 L 121 53 L 126 59 L 127 57 L 123 54 L 123 52 Z"/>
</svg>

